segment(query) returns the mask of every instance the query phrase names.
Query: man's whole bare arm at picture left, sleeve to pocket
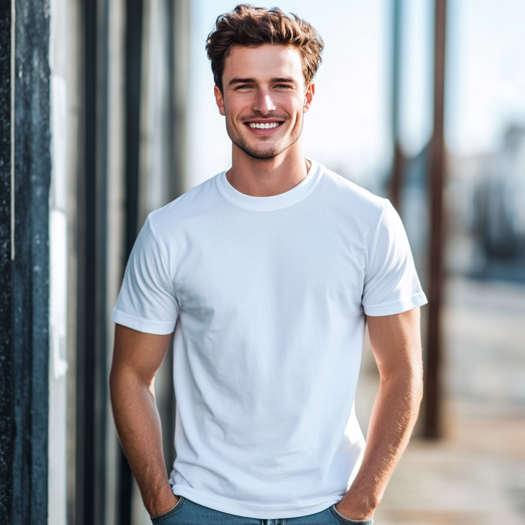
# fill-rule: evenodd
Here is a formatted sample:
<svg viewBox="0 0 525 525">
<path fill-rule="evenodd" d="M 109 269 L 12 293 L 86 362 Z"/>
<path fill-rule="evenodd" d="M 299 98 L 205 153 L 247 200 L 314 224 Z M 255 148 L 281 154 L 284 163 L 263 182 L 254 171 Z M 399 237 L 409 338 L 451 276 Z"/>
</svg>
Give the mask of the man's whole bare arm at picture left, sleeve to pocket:
<svg viewBox="0 0 525 525">
<path fill-rule="evenodd" d="M 109 376 L 117 433 L 150 516 L 170 510 L 178 501 L 166 476 L 154 391 L 155 374 L 169 341 L 170 335 L 138 332 L 117 324 Z"/>
</svg>

